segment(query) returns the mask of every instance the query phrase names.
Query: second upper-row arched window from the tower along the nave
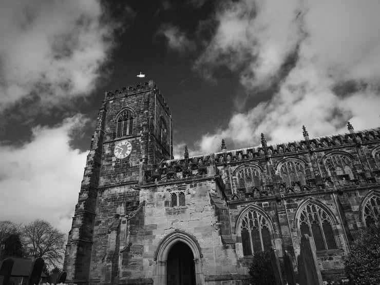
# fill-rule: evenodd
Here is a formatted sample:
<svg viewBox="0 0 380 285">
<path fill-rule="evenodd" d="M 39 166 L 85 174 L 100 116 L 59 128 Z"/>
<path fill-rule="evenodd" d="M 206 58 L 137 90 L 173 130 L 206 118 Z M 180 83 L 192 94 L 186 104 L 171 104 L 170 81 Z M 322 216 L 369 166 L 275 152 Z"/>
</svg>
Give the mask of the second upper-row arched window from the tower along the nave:
<svg viewBox="0 0 380 285">
<path fill-rule="evenodd" d="M 287 187 L 293 187 L 296 182 L 300 185 L 306 185 L 305 164 L 303 162 L 295 159 L 287 160 L 279 165 L 278 170 Z"/>
</svg>

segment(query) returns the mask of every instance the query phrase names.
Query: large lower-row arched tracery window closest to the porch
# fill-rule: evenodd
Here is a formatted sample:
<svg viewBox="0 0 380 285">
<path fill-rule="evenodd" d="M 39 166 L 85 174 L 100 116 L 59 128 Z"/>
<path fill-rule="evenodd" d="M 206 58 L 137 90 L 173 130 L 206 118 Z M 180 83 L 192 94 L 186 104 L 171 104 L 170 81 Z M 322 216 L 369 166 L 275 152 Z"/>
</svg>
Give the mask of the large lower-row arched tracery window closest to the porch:
<svg viewBox="0 0 380 285">
<path fill-rule="evenodd" d="M 270 249 L 271 234 L 268 221 L 259 212 L 251 210 L 243 216 L 240 232 L 244 256 Z"/>
</svg>

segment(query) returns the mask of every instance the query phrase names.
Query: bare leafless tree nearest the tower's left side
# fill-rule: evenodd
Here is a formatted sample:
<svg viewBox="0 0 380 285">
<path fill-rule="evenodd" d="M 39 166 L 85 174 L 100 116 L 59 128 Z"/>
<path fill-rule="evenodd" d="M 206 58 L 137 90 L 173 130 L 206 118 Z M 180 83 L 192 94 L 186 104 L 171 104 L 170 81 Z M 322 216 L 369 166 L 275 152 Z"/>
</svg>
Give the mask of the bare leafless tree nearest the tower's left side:
<svg viewBox="0 0 380 285">
<path fill-rule="evenodd" d="M 62 263 L 65 253 L 65 235 L 45 220 L 34 220 L 22 227 L 25 246 L 34 257 L 42 257 L 45 263 L 56 267 Z"/>
</svg>

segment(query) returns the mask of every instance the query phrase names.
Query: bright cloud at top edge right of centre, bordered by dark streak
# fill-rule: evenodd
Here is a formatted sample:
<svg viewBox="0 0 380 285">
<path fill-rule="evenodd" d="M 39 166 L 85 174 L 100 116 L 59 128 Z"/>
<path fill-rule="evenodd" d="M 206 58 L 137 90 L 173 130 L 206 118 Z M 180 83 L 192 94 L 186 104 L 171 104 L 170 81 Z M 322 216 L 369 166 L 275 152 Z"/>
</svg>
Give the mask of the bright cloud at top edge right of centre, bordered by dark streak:
<svg viewBox="0 0 380 285">
<path fill-rule="evenodd" d="M 305 36 L 301 8 L 299 0 L 223 2 L 216 13 L 219 26 L 196 66 L 209 73 L 225 65 L 241 72 L 244 87 L 267 87 Z"/>
</svg>

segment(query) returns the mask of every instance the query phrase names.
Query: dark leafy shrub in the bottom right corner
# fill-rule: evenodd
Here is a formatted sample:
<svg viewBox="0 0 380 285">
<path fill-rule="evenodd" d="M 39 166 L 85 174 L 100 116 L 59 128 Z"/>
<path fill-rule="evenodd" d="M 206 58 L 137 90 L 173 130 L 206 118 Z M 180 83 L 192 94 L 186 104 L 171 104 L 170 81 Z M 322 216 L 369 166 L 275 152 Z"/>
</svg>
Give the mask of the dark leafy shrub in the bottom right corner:
<svg viewBox="0 0 380 285">
<path fill-rule="evenodd" d="M 356 239 L 345 259 L 347 278 L 355 285 L 380 284 L 380 227 L 372 226 Z"/>
</svg>

